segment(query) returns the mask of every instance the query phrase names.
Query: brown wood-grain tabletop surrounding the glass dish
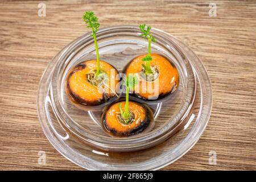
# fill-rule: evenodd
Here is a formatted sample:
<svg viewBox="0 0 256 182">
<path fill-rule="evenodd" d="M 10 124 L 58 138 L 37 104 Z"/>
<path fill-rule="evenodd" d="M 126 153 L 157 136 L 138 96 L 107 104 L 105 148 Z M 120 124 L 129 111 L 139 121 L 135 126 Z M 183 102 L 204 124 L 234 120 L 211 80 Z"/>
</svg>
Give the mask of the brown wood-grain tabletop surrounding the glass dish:
<svg viewBox="0 0 256 182">
<path fill-rule="evenodd" d="M 88 29 L 84 10 L 101 27 L 150 24 L 170 32 L 197 53 L 208 70 L 213 109 L 203 137 L 170 169 L 256 169 L 256 2 L 40 1 L 0 3 L 0 169 L 82 169 L 45 137 L 36 113 L 40 77 L 53 56 Z M 212 12 L 212 11 L 211 11 Z M 38 152 L 46 164 L 38 164 Z M 217 164 L 208 162 L 216 151 Z"/>
</svg>

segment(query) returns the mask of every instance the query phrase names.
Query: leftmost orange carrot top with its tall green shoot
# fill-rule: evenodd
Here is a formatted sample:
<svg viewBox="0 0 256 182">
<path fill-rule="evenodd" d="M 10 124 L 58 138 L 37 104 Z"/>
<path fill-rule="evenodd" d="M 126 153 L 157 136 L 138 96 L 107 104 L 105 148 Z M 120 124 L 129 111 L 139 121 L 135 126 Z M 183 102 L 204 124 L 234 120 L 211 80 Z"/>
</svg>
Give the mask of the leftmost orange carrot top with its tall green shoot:
<svg viewBox="0 0 256 182">
<path fill-rule="evenodd" d="M 119 80 L 118 71 L 105 61 L 100 61 L 96 32 L 100 23 L 92 11 L 82 17 L 87 27 L 92 28 L 97 60 L 88 60 L 76 65 L 66 79 L 66 92 L 69 99 L 86 106 L 101 105 L 116 95 Z"/>
</svg>

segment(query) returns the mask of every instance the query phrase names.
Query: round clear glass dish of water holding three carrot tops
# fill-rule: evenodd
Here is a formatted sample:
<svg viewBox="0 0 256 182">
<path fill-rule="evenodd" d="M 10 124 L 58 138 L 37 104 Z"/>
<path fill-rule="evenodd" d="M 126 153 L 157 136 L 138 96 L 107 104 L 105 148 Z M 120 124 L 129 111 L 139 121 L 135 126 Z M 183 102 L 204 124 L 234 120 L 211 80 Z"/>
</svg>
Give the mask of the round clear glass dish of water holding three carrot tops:
<svg viewBox="0 0 256 182">
<path fill-rule="evenodd" d="M 100 59 L 119 72 L 130 60 L 147 52 L 139 28 L 117 26 L 97 32 Z M 158 40 L 151 52 L 167 57 L 179 71 L 179 87 L 163 100 L 146 102 L 154 109 L 151 130 L 131 137 L 111 137 L 101 127 L 101 111 L 84 111 L 69 101 L 65 78 L 72 67 L 95 59 L 90 34 L 62 49 L 49 63 L 38 90 L 38 114 L 52 145 L 86 169 L 158 169 L 184 155 L 207 126 L 212 107 L 209 77 L 198 57 L 170 34 L 152 28 Z M 110 104 L 107 102 L 106 104 Z"/>
</svg>

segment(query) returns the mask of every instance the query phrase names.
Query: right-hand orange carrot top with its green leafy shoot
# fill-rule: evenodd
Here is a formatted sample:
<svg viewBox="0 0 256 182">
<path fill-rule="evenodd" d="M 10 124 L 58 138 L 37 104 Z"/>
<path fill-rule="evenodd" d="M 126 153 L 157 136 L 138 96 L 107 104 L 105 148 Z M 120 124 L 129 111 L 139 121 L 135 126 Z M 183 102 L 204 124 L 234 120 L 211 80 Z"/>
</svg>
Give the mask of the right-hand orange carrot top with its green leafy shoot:
<svg viewBox="0 0 256 182">
<path fill-rule="evenodd" d="M 144 38 L 148 39 L 148 53 L 130 61 L 123 70 L 126 75 L 138 76 L 139 83 L 134 94 L 144 100 L 159 100 L 173 93 L 179 85 L 179 73 L 176 67 L 161 55 L 151 53 L 151 41 L 156 42 L 150 33 L 151 27 L 139 26 Z"/>
</svg>

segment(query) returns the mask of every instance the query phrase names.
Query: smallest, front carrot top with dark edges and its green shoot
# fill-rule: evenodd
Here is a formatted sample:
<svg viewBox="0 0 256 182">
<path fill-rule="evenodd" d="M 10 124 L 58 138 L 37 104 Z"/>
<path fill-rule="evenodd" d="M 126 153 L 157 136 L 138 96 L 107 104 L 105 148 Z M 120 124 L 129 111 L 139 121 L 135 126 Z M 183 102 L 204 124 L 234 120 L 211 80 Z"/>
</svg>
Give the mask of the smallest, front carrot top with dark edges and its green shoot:
<svg viewBox="0 0 256 182">
<path fill-rule="evenodd" d="M 153 121 L 154 115 L 150 107 L 129 101 L 129 88 L 137 84 L 136 77 L 128 76 L 125 80 L 126 100 L 115 102 L 102 114 L 102 125 L 111 135 L 128 137 L 141 133 Z"/>
</svg>

